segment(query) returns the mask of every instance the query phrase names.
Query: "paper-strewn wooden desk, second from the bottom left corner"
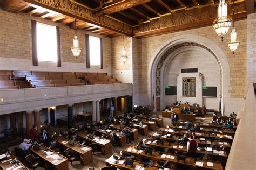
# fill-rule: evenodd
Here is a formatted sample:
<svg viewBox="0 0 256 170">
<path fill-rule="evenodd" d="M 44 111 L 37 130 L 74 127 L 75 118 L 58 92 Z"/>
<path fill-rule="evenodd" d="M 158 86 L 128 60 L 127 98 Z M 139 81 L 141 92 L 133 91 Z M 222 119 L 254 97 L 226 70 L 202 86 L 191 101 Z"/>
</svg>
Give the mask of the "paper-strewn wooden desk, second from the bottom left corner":
<svg viewBox="0 0 256 170">
<path fill-rule="evenodd" d="M 59 160 L 55 163 L 53 163 L 52 161 L 54 161 L 55 159 L 52 159 L 52 158 L 46 158 L 47 155 L 42 155 L 43 153 L 43 150 L 45 148 L 47 148 L 46 146 L 44 145 L 41 145 L 39 146 L 40 147 L 40 150 L 39 151 L 35 151 L 31 146 L 30 146 L 30 150 L 37 154 L 40 158 L 44 159 L 45 161 L 49 162 L 51 165 L 53 165 L 53 167 L 55 167 L 55 169 L 58 169 L 58 170 L 63 170 L 63 169 L 69 169 L 69 161 L 67 158 L 63 157 L 62 155 L 58 154 L 58 153 L 53 153 L 55 155 L 59 155 L 60 157 L 63 157 L 62 160 Z"/>
</svg>

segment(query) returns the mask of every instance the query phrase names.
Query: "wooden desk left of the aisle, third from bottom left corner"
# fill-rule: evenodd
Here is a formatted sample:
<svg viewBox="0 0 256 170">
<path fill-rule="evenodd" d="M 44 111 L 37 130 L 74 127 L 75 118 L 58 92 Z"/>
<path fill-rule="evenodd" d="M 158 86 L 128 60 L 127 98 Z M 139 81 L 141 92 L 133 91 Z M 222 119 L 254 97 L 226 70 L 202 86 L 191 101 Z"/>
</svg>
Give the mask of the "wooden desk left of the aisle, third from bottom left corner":
<svg viewBox="0 0 256 170">
<path fill-rule="evenodd" d="M 80 155 L 80 159 L 82 160 L 84 165 L 90 164 L 92 162 L 92 148 L 88 146 L 80 146 L 79 143 L 75 141 L 74 146 L 70 146 L 69 144 L 63 144 L 63 141 L 70 141 L 70 139 L 65 139 L 62 136 L 59 136 L 57 139 L 50 136 L 53 140 L 56 140 L 60 145 L 65 148 L 71 148 L 73 151 L 77 152 Z M 87 147 L 87 150 L 84 151 L 82 148 Z"/>
</svg>

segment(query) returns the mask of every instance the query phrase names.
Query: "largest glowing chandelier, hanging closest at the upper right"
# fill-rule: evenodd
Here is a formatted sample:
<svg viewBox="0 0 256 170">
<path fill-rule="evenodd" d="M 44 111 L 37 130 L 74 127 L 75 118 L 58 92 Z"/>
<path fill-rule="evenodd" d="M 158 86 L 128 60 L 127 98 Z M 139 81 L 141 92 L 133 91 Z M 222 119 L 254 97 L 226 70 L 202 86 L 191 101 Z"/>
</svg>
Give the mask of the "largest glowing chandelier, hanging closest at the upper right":
<svg viewBox="0 0 256 170">
<path fill-rule="evenodd" d="M 218 5 L 218 17 L 215 18 L 212 26 L 218 36 L 221 36 L 222 41 L 223 36 L 227 34 L 231 24 L 232 18 L 227 16 L 227 3 L 225 2 L 225 0 L 220 0 L 220 3 Z"/>
</svg>

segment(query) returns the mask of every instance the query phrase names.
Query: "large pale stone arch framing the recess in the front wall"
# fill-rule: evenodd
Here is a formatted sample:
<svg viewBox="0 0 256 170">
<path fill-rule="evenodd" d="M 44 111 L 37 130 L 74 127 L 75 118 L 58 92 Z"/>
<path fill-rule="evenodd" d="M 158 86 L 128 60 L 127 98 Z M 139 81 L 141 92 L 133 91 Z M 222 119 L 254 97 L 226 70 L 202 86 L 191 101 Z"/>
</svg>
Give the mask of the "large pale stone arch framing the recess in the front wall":
<svg viewBox="0 0 256 170">
<path fill-rule="evenodd" d="M 161 75 L 161 68 L 163 66 L 163 63 L 167 59 L 167 57 L 176 51 L 176 49 L 183 48 L 183 47 L 199 47 L 207 51 L 208 53 L 211 53 L 211 55 L 215 58 L 215 60 L 218 62 L 219 68 L 220 68 L 220 82 L 221 82 L 221 90 L 220 94 L 222 94 L 222 100 L 225 100 L 225 97 L 228 94 L 228 87 L 230 86 L 230 68 L 228 65 L 228 61 L 226 58 L 225 53 L 223 50 L 215 44 L 213 41 L 210 39 L 207 39 L 202 36 L 198 35 L 191 35 L 191 34 L 185 34 L 181 36 L 174 37 L 172 39 L 169 39 L 161 45 L 157 51 L 154 53 L 150 65 L 149 65 L 149 70 L 148 74 L 150 75 L 148 79 L 150 82 L 149 86 L 149 91 L 150 93 L 148 94 L 149 97 L 152 97 L 152 94 L 154 96 L 160 96 L 161 93 L 159 93 L 159 88 L 160 87 L 160 75 Z M 160 90 L 161 91 L 161 90 Z M 161 101 L 163 101 L 161 99 Z M 156 101 L 154 101 L 156 102 Z M 223 102 L 222 102 L 223 103 Z M 155 103 L 156 105 L 156 103 Z M 223 104 L 224 105 L 224 104 Z M 156 110 L 156 108 L 155 108 Z M 223 110 L 225 111 L 224 107 Z"/>
</svg>

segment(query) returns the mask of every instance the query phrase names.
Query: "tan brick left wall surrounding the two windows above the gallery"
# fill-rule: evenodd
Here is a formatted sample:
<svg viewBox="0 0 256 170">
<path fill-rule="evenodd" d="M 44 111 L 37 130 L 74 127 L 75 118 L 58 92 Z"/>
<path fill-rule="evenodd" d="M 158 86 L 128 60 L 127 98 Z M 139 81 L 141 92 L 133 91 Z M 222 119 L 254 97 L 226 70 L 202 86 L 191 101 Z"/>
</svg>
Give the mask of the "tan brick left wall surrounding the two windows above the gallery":
<svg viewBox="0 0 256 170">
<path fill-rule="evenodd" d="M 39 62 L 32 66 L 31 19 L 37 22 L 60 27 L 60 49 L 62 67 L 56 63 Z M 99 36 L 84 30 L 78 30 L 79 45 L 82 47 L 80 56 L 76 59 L 72 52 L 75 30 L 45 19 L 11 13 L 0 9 L 0 69 L 1 70 L 38 70 L 59 72 L 106 72 L 111 75 L 111 38 Z M 86 68 L 85 33 L 103 38 L 103 69 L 99 67 Z"/>
</svg>

